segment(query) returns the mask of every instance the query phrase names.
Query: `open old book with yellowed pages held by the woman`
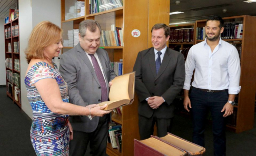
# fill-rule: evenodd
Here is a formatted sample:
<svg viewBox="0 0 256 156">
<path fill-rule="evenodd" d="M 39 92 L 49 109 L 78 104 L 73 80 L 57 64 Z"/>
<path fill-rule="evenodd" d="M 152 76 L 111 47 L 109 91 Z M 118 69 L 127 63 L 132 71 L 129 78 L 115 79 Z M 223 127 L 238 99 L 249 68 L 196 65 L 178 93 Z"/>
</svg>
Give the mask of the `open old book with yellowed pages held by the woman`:
<svg viewBox="0 0 256 156">
<path fill-rule="evenodd" d="M 103 106 L 107 103 L 107 107 L 104 110 L 111 110 L 132 104 L 134 99 L 134 84 L 135 71 L 115 77 L 110 87 L 110 101 L 101 102 L 99 105 Z"/>
</svg>

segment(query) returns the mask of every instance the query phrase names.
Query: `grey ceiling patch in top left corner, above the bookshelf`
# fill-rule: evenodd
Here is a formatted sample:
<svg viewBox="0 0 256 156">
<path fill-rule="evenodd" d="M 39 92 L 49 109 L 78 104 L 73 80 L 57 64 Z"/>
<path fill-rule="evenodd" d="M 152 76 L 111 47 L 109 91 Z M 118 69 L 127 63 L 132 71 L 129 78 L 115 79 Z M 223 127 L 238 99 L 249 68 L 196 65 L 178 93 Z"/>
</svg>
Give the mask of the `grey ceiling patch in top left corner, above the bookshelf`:
<svg viewBox="0 0 256 156">
<path fill-rule="evenodd" d="M 16 9 L 17 0 L 0 0 L 0 18 L 9 16 L 9 8 Z"/>
</svg>

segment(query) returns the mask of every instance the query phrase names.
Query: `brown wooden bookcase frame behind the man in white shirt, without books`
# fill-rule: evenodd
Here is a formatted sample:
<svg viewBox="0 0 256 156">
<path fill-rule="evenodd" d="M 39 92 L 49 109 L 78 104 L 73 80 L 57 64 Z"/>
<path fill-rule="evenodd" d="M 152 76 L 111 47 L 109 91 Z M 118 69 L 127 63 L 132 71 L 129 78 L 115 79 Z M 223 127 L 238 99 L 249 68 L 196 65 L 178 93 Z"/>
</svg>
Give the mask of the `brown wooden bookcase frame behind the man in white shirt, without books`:
<svg viewBox="0 0 256 156">
<path fill-rule="evenodd" d="M 255 30 L 255 16 L 234 16 L 224 17 L 224 23 L 242 23 L 243 24 L 243 36 L 241 39 L 223 39 L 230 43 L 241 44 L 240 64 L 241 64 L 241 77 L 240 86 L 241 91 L 238 95 L 238 106 L 234 107 L 237 111 L 234 118 L 233 126 L 227 125 L 232 131 L 239 133 L 245 130 L 253 128 L 254 121 L 254 103 L 255 103 L 255 83 L 256 83 L 256 30 Z M 195 28 L 204 27 L 206 20 L 197 20 Z M 195 36 L 194 36 L 195 38 Z M 203 40 L 195 40 L 195 44 L 200 43 Z M 231 116 L 232 117 L 232 116 Z M 230 117 L 230 118 L 231 118 Z"/>
</svg>

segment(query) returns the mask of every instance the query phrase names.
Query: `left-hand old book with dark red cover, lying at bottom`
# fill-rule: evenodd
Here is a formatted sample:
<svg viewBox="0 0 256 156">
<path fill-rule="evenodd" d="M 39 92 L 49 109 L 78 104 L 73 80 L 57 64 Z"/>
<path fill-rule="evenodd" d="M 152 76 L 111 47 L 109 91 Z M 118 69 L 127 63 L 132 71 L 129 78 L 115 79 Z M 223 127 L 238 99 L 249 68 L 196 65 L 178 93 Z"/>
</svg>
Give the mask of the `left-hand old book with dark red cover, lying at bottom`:
<svg viewBox="0 0 256 156">
<path fill-rule="evenodd" d="M 151 138 L 141 141 L 134 139 L 134 156 L 141 155 L 180 156 L 187 155 L 187 153 L 151 136 Z"/>
</svg>

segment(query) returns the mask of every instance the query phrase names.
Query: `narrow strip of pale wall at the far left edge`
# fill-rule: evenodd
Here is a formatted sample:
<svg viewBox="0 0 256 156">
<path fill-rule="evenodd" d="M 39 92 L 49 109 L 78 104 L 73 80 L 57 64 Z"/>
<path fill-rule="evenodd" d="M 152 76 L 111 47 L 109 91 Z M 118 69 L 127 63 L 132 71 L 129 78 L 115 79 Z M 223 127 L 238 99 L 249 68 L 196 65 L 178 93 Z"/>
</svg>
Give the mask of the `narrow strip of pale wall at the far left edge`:
<svg viewBox="0 0 256 156">
<path fill-rule="evenodd" d="M 5 77 L 5 47 L 4 47 L 4 19 L 0 18 L 0 85 L 6 85 Z"/>
</svg>

